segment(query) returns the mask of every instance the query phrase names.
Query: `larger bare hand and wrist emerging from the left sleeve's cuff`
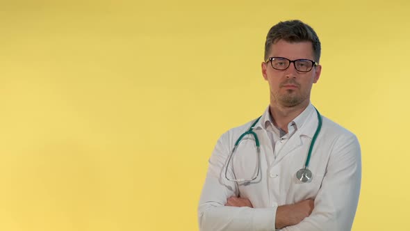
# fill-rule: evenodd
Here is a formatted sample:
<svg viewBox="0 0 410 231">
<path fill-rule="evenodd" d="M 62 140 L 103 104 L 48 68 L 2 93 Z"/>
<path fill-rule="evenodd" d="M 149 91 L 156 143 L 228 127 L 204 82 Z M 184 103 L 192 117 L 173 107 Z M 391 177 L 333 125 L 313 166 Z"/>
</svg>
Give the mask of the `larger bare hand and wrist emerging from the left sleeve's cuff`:
<svg viewBox="0 0 410 231">
<path fill-rule="evenodd" d="M 297 225 L 312 213 L 314 207 L 314 200 L 302 200 L 293 205 L 281 205 L 277 207 L 276 228 L 281 229 L 285 226 Z"/>
</svg>

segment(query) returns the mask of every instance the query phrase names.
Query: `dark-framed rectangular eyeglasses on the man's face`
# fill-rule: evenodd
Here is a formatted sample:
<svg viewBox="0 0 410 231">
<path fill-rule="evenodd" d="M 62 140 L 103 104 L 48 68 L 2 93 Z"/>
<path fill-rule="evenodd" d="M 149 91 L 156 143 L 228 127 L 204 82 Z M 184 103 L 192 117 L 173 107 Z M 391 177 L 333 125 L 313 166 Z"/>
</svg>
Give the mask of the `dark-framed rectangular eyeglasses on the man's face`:
<svg viewBox="0 0 410 231">
<path fill-rule="evenodd" d="M 276 70 L 286 70 L 290 66 L 290 63 L 293 63 L 298 72 L 310 72 L 313 66 L 318 65 L 318 63 L 311 61 L 310 59 L 290 60 L 283 57 L 270 57 L 265 61 L 265 63 L 268 63 L 269 61 L 270 65 L 272 65 L 272 67 Z"/>
</svg>

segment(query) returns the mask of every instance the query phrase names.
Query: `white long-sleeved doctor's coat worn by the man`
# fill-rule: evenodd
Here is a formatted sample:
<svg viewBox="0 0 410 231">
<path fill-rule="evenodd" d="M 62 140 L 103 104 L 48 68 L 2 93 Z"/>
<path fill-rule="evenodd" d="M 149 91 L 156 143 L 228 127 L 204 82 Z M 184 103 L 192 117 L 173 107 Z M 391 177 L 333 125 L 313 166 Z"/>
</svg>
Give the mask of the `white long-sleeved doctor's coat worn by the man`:
<svg viewBox="0 0 410 231">
<path fill-rule="evenodd" d="M 306 199 L 315 200 L 311 215 L 281 230 L 351 230 L 361 184 L 360 145 L 351 132 L 325 117 L 322 120 L 309 163 L 313 176 L 309 183 L 300 182 L 295 175 L 304 168 L 318 127 L 318 116 L 311 104 L 289 123 L 289 133 L 282 137 L 270 124 L 269 107 L 263 113 L 253 129 L 261 143 L 261 170 L 253 182 L 228 181 L 225 168 L 235 142 L 255 120 L 223 134 L 209 159 L 199 200 L 200 230 L 275 230 L 277 207 Z M 242 139 L 229 164 L 229 178 L 256 175 L 255 147 L 253 136 Z M 224 206 L 231 196 L 248 198 L 253 208 Z"/>
</svg>

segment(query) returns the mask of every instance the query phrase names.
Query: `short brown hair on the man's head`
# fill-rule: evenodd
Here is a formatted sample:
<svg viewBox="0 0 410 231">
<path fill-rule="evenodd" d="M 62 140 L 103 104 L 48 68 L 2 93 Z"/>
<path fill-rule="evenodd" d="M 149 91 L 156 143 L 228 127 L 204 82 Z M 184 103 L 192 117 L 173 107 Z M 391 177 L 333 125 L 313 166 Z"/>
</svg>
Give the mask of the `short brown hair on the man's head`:
<svg viewBox="0 0 410 231">
<path fill-rule="evenodd" d="M 272 44 L 279 40 L 286 42 L 312 42 L 313 56 L 315 61 L 319 63 L 320 60 L 320 40 L 316 32 L 304 22 L 300 20 L 289 20 L 279 22 L 272 26 L 266 35 L 265 42 L 265 59 L 268 59 L 268 53 Z"/>
</svg>

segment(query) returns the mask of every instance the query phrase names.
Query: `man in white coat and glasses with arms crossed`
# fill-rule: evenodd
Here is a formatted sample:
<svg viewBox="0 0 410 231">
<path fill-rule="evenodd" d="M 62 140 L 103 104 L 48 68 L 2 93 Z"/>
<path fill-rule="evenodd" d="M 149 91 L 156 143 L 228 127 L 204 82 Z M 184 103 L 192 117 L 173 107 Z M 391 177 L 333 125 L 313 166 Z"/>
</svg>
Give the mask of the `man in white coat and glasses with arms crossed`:
<svg viewBox="0 0 410 231">
<path fill-rule="evenodd" d="M 270 106 L 216 144 L 199 201 L 201 230 L 351 230 L 361 151 L 354 134 L 310 102 L 319 60 L 311 26 L 291 20 L 270 29 L 262 63 Z"/>
</svg>

